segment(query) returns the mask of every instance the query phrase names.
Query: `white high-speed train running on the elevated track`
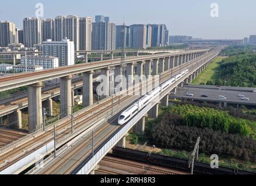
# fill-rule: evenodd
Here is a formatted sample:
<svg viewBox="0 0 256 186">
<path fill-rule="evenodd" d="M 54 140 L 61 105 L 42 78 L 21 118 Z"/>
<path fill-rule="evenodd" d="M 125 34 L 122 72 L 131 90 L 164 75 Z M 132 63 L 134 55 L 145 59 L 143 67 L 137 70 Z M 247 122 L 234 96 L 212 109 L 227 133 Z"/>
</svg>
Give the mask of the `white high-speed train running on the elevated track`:
<svg viewBox="0 0 256 186">
<path fill-rule="evenodd" d="M 181 77 L 185 76 L 185 74 L 188 73 L 188 70 L 182 71 L 180 74 L 177 74 L 174 77 L 171 77 L 168 81 L 160 85 L 159 87 L 156 87 L 154 90 L 150 91 L 148 94 L 143 96 L 139 101 L 135 102 L 132 106 L 130 106 L 127 110 L 121 113 L 121 115 L 118 118 L 118 124 L 123 125 L 127 123 L 129 120 L 134 117 L 139 110 L 144 108 L 146 105 L 148 105 L 149 102 L 151 102 L 153 99 L 156 98 L 156 96 L 159 96 L 161 92 L 165 91 L 167 88 L 170 87 L 173 83 L 178 81 Z"/>
</svg>

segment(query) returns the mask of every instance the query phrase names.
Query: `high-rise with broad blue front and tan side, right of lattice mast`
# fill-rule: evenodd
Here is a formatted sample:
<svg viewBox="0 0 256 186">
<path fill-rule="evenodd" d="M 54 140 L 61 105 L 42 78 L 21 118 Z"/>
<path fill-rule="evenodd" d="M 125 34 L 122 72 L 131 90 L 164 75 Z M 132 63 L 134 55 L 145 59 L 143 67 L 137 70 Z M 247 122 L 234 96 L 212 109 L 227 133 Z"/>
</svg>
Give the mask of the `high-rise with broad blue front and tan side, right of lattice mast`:
<svg viewBox="0 0 256 186">
<path fill-rule="evenodd" d="M 131 47 L 146 49 L 146 25 L 133 24 L 131 28 Z"/>
</svg>

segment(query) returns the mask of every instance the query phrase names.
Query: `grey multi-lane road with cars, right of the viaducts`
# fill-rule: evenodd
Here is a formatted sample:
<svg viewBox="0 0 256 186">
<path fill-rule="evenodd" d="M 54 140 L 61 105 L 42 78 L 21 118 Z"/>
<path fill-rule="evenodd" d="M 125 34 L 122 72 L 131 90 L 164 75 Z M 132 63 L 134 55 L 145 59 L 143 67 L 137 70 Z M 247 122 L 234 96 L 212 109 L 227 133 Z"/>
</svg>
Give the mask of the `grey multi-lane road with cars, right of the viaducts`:
<svg viewBox="0 0 256 186">
<path fill-rule="evenodd" d="M 194 96 L 187 96 L 187 93 L 194 94 Z M 249 101 L 241 99 L 238 95 L 243 94 Z M 208 98 L 201 97 L 201 95 L 207 95 Z M 219 95 L 225 96 L 227 99 L 220 99 Z M 171 95 L 171 98 L 177 99 L 194 99 L 198 101 L 207 102 L 227 102 L 236 103 L 241 105 L 254 105 L 256 106 L 256 92 L 243 92 L 243 91 L 230 91 L 230 90 L 215 90 L 212 88 L 192 88 L 183 87 L 177 89 L 176 95 Z"/>
</svg>

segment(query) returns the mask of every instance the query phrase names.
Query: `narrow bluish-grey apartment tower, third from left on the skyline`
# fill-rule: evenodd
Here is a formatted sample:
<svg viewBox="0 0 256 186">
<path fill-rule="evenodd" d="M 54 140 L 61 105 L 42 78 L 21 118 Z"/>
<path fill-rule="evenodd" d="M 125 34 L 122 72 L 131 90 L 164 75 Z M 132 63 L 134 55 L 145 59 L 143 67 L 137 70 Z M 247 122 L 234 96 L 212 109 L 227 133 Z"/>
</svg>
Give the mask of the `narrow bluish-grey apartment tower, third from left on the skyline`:
<svg viewBox="0 0 256 186">
<path fill-rule="evenodd" d="M 44 19 L 42 26 L 43 41 L 55 40 L 54 37 L 54 19 Z"/>
</svg>

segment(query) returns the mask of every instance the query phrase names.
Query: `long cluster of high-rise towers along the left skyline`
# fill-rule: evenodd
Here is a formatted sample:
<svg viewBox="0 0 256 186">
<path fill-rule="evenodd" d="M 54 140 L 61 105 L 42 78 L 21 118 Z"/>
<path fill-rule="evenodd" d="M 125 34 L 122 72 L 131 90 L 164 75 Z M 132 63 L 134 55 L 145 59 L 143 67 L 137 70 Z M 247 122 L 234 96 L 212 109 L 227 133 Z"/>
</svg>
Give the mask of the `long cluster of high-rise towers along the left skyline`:
<svg viewBox="0 0 256 186">
<path fill-rule="evenodd" d="M 124 38 L 125 36 L 125 38 Z M 74 43 L 75 51 L 114 50 L 122 48 L 162 47 L 169 44 L 169 31 L 165 24 L 115 25 L 110 17 L 57 16 L 55 19 L 26 17 L 23 30 L 14 23 L 0 22 L 0 47 L 22 43 L 27 48 L 43 44 L 44 41 Z"/>
</svg>

